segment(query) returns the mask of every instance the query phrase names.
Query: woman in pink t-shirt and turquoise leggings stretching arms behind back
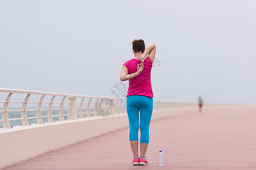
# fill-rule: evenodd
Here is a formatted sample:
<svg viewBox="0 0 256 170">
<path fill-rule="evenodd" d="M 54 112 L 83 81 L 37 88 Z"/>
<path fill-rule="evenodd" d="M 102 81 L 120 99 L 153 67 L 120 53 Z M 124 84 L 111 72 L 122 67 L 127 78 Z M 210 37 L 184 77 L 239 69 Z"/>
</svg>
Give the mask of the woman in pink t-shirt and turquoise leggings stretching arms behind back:
<svg viewBox="0 0 256 170">
<path fill-rule="evenodd" d="M 147 165 L 146 151 L 149 142 L 149 127 L 153 111 L 151 68 L 156 46 L 151 43 L 145 50 L 144 40 L 133 40 L 134 58 L 125 62 L 120 74 L 121 81 L 129 80 L 126 110 L 130 125 L 130 146 L 133 151 L 133 165 Z M 148 54 L 148 56 L 147 56 Z M 140 114 L 139 114 L 140 113 Z M 140 115 L 140 122 L 139 122 Z M 138 130 L 141 130 L 141 156 L 138 155 Z"/>
</svg>

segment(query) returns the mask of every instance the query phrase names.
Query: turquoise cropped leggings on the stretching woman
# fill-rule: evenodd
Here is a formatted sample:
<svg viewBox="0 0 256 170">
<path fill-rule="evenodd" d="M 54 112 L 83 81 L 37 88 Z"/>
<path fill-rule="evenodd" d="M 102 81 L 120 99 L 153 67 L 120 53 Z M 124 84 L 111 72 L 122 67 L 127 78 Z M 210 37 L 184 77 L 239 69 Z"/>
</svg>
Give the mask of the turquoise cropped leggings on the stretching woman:
<svg viewBox="0 0 256 170">
<path fill-rule="evenodd" d="M 153 111 L 153 98 L 141 95 L 128 96 L 126 111 L 130 124 L 130 141 L 138 141 L 138 131 L 141 130 L 141 143 L 149 142 L 149 127 Z M 139 123 L 140 112 L 140 123 Z"/>
</svg>

